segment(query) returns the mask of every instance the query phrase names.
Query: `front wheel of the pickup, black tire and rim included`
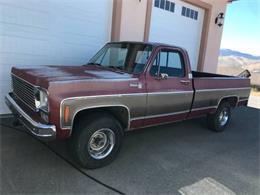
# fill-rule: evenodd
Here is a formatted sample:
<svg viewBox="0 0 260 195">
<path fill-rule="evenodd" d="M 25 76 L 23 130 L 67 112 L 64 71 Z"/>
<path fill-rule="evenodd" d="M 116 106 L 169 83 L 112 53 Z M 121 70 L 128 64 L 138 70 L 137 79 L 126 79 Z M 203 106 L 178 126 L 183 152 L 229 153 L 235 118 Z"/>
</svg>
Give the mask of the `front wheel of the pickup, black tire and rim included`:
<svg viewBox="0 0 260 195">
<path fill-rule="evenodd" d="M 71 138 L 72 154 L 84 168 L 95 169 L 111 163 L 123 139 L 120 123 L 106 113 L 82 117 L 75 124 Z"/>
</svg>

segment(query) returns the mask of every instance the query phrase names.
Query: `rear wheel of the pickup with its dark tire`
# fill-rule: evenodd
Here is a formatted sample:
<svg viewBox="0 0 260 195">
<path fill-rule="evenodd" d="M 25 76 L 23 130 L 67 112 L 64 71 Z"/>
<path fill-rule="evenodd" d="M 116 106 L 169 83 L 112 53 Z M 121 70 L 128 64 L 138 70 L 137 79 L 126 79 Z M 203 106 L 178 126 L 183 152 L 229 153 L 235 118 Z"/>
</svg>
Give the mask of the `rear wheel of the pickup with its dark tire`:
<svg viewBox="0 0 260 195">
<path fill-rule="evenodd" d="M 222 132 L 231 119 L 231 106 L 228 102 L 219 105 L 214 114 L 207 116 L 208 127 L 216 132 Z"/>
</svg>

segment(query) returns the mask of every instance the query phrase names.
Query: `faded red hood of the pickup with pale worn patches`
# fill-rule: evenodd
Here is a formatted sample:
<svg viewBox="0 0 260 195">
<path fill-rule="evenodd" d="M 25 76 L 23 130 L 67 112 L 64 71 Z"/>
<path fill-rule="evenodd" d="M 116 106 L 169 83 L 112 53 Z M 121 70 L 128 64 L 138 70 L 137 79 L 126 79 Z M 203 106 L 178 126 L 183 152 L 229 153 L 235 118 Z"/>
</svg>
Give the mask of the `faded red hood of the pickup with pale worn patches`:
<svg viewBox="0 0 260 195">
<path fill-rule="evenodd" d="M 44 88 L 48 88 L 51 82 L 132 78 L 131 74 L 97 66 L 13 67 L 12 74 Z"/>
</svg>

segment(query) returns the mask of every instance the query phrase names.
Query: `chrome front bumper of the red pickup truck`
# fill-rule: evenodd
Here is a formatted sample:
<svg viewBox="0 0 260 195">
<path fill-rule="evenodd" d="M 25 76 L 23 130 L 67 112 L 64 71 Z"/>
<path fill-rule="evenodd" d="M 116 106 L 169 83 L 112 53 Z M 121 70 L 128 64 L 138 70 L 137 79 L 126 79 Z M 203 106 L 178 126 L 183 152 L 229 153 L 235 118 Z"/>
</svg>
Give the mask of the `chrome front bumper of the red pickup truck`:
<svg viewBox="0 0 260 195">
<path fill-rule="evenodd" d="M 36 137 L 49 141 L 56 138 L 55 125 L 46 125 L 33 120 L 11 97 L 11 93 L 5 96 L 5 102 L 17 119 Z"/>
</svg>

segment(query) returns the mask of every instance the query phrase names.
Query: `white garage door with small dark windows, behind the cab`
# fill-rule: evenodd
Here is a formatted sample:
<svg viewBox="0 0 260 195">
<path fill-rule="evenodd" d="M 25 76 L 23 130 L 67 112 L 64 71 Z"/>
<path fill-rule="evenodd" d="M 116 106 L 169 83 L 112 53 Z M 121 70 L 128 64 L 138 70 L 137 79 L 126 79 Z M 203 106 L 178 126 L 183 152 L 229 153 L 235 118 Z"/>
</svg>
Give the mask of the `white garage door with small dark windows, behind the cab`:
<svg viewBox="0 0 260 195">
<path fill-rule="evenodd" d="M 154 0 L 149 41 L 185 48 L 197 70 L 204 10 L 180 0 Z"/>
</svg>

